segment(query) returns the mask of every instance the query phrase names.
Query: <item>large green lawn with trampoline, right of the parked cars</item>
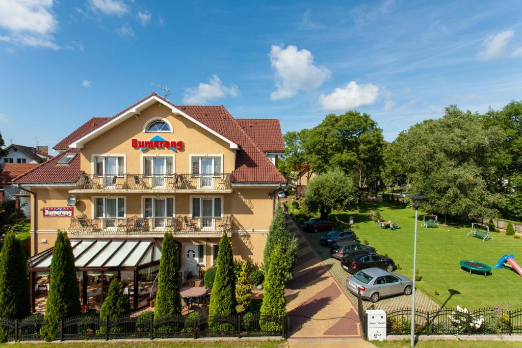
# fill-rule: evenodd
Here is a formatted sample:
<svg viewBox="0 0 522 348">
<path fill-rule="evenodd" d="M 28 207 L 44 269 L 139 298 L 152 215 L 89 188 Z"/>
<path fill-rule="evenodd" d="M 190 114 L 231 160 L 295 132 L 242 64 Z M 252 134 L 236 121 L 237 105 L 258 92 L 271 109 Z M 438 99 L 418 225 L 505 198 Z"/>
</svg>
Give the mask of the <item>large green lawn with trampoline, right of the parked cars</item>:
<svg viewBox="0 0 522 348">
<path fill-rule="evenodd" d="M 377 209 L 384 220 L 399 223 L 399 230 L 378 227 L 368 216 L 370 211 Z M 360 241 L 368 241 L 379 254 L 393 258 L 402 268 L 397 272 L 412 278 L 415 216 L 412 208 L 381 201 L 361 202 L 358 211 L 332 213 L 328 219 L 335 221 L 335 215 L 343 221 L 349 221 L 352 216 L 355 225 L 360 227 L 354 229 Z M 422 213 L 419 215 L 417 269 L 422 280 L 417 282 L 417 289 L 442 307 L 460 305 L 474 309 L 503 305 L 522 308 L 522 277 L 516 272 L 493 269 L 493 275 L 484 278 L 469 275 L 459 267 L 460 260 L 479 261 L 493 267 L 504 254 L 514 254 L 515 261 L 522 264 L 522 239 L 501 232 L 492 233 L 494 241 L 482 242 L 466 236 L 471 224 L 461 227 L 441 224 L 440 229 L 426 229 L 421 227 Z M 323 248 L 327 253 L 327 248 Z"/>
</svg>

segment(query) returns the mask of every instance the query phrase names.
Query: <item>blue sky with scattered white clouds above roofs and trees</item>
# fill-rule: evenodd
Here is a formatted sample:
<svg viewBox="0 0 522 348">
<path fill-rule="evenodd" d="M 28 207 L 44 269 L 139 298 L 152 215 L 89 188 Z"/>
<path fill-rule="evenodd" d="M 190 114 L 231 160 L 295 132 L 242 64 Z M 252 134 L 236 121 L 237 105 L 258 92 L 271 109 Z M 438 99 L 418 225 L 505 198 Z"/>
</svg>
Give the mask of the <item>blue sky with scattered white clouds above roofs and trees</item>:
<svg viewBox="0 0 522 348">
<path fill-rule="evenodd" d="M 522 97 L 522 2 L 0 0 L 0 131 L 52 147 L 169 86 L 177 104 L 372 115 L 385 139 L 444 107 Z"/>
</svg>

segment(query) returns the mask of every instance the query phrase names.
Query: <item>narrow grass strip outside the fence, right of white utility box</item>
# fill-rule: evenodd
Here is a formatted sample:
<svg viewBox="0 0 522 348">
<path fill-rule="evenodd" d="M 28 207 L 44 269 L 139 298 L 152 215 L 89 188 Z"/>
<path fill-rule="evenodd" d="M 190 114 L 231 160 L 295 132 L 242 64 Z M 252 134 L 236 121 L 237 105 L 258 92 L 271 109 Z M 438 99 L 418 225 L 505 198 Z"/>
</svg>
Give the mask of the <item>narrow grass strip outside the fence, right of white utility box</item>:
<svg viewBox="0 0 522 348">
<path fill-rule="evenodd" d="M 401 341 L 372 341 L 377 347 L 386 348 L 402 348 L 409 347 L 409 340 Z M 420 348 L 490 348 L 490 347 L 520 347 L 522 342 L 504 342 L 504 341 L 448 341 L 448 340 L 426 340 L 419 341 L 415 344 L 416 347 Z"/>
</svg>

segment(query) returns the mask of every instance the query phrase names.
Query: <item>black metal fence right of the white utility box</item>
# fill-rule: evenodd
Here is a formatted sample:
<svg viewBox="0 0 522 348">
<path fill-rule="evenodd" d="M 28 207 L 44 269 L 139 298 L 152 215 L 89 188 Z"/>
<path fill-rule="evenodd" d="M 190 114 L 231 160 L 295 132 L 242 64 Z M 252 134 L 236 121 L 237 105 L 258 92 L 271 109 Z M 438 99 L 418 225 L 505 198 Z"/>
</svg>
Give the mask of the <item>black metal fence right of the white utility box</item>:
<svg viewBox="0 0 522 348">
<path fill-rule="evenodd" d="M 415 311 L 415 333 L 432 334 L 521 334 L 522 309 L 503 310 L 482 308 L 467 311 L 462 308 L 442 308 L 437 311 Z M 387 334 L 411 332 L 411 309 L 387 314 Z"/>
</svg>

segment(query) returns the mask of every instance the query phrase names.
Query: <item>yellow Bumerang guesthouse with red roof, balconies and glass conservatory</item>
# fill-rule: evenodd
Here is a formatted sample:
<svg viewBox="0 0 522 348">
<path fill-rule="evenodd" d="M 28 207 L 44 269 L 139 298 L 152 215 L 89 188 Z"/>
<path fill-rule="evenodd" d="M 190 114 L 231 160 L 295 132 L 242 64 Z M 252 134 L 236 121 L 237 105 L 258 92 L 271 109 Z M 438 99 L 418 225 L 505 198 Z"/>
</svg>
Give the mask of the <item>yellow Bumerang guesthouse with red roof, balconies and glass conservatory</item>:
<svg viewBox="0 0 522 348">
<path fill-rule="evenodd" d="M 89 305 L 100 302 L 91 297 L 103 301 L 113 277 L 144 292 L 134 308 L 146 305 L 165 232 L 179 243 L 182 277 L 213 265 L 223 230 L 235 258 L 262 262 L 286 182 L 274 165 L 284 151 L 277 120 L 235 119 L 223 106 L 177 106 L 152 93 L 113 117 L 90 119 L 54 149 L 61 153 L 14 180 L 35 212 L 34 298 L 49 288 L 57 230 L 72 240 Z"/>
</svg>

